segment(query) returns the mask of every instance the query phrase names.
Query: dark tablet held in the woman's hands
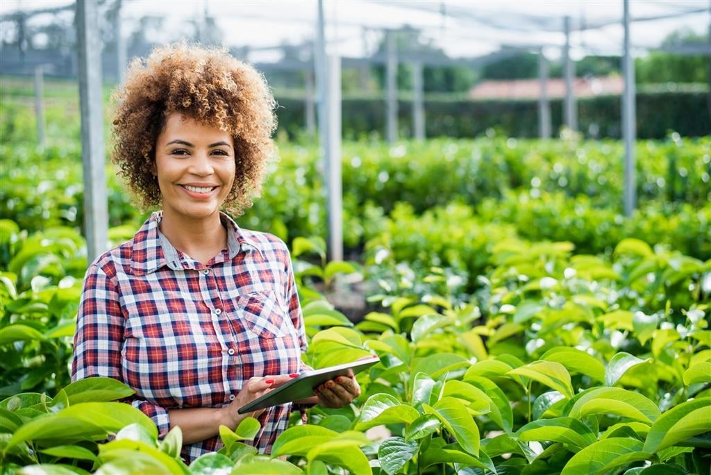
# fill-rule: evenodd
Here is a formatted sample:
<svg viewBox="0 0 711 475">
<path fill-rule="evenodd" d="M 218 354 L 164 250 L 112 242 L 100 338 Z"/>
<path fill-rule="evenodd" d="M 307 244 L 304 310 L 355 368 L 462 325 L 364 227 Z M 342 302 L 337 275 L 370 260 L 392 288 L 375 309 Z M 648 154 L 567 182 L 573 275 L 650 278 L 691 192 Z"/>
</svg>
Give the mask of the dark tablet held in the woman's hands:
<svg viewBox="0 0 711 475">
<path fill-rule="evenodd" d="M 282 384 L 279 388 L 274 388 L 269 391 L 269 393 L 257 397 L 257 399 L 252 402 L 243 405 L 237 412 L 244 414 L 245 412 L 257 409 L 264 409 L 264 407 L 306 399 L 314 395 L 314 388 L 316 388 L 316 386 L 326 383 L 326 381 L 336 378 L 337 376 L 347 375 L 349 369 L 353 370 L 353 374 L 360 373 L 360 371 L 363 371 L 365 368 L 370 368 L 370 366 L 378 363 L 378 361 L 380 361 L 380 358 L 373 355 L 370 358 L 364 358 L 351 363 L 301 373 L 301 375 L 287 381 L 287 383 Z"/>
</svg>

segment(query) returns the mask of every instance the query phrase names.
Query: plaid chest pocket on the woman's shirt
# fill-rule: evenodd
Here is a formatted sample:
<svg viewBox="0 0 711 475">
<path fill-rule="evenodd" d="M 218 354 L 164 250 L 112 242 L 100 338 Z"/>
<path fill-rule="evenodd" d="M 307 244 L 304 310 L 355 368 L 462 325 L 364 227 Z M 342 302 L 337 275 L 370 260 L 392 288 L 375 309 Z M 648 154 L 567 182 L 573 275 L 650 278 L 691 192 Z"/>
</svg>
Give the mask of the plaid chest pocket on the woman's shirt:
<svg viewBox="0 0 711 475">
<path fill-rule="evenodd" d="M 247 331 L 261 338 L 282 338 L 291 333 L 287 311 L 273 290 L 237 297 L 237 315 Z"/>
</svg>

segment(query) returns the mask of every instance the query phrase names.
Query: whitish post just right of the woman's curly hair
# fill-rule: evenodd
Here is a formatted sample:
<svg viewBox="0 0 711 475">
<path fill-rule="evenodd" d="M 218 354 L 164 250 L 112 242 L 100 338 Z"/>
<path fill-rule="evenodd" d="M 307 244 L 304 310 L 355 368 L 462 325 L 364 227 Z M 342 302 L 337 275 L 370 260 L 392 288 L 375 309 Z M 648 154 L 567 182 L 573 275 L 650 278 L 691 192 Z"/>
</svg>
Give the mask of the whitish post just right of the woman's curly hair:
<svg viewBox="0 0 711 475">
<path fill-rule="evenodd" d="M 343 184 L 341 183 L 341 58 L 328 58 L 328 250 L 343 260 Z"/>
</svg>

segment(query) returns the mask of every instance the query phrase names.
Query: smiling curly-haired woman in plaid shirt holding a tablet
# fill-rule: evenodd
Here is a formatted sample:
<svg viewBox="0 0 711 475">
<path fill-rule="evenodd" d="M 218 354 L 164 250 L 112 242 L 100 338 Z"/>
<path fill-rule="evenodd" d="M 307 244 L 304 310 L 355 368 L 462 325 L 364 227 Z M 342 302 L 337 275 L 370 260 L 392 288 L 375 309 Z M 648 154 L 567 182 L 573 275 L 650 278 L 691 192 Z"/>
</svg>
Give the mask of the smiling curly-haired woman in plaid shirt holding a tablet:
<svg viewBox="0 0 711 475">
<path fill-rule="evenodd" d="M 275 103 L 249 65 L 183 44 L 134 61 L 118 97 L 114 162 L 141 205 L 162 211 L 87 270 L 72 378 L 124 381 L 161 436 L 181 427 L 189 463 L 220 448 L 218 427 L 235 429 L 242 405 L 306 368 L 287 247 L 220 212 L 260 193 Z M 359 393 L 351 375 L 305 402 L 342 407 Z M 250 414 L 260 452 L 291 408 Z"/>
</svg>

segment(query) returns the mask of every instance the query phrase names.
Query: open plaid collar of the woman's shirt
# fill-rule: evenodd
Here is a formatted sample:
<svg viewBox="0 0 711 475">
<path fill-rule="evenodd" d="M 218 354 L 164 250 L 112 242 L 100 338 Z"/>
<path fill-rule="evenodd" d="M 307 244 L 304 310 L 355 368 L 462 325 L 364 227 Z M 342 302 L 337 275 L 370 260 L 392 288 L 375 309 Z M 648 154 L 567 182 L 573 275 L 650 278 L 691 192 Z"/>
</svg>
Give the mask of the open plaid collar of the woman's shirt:
<svg viewBox="0 0 711 475">
<path fill-rule="evenodd" d="M 163 266 L 173 270 L 182 270 L 178 250 L 159 230 L 163 219 L 162 211 L 155 211 L 138 230 L 133 239 L 131 271 L 136 275 L 150 274 Z M 257 251 L 262 254 L 255 240 L 251 239 L 235 223 L 235 220 L 225 213 L 220 213 L 220 221 L 227 228 L 227 245 L 230 260 L 240 252 Z"/>
</svg>

